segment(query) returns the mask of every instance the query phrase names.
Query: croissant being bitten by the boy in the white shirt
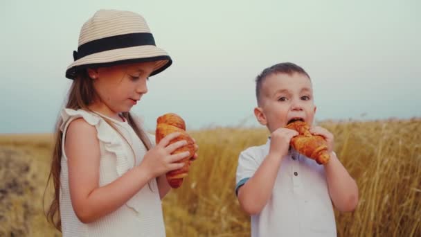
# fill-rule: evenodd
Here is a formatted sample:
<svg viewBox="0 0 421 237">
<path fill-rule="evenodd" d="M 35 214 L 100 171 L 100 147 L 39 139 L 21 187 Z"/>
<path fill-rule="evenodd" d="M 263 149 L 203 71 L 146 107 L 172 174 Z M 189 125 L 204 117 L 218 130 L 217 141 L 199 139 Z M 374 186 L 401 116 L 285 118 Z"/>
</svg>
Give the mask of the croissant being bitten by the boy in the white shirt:
<svg viewBox="0 0 421 237">
<path fill-rule="evenodd" d="M 310 126 L 303 121 L 294 121 L 285 128 L 296 130 L 299 134 L 291 139 L 292 147 L 305 155 L 316 160 L 317 164 L 327 164 L 330 155 L 328 153 L 328 143 L 319 135 L 310 133 Z"/>
</svg>

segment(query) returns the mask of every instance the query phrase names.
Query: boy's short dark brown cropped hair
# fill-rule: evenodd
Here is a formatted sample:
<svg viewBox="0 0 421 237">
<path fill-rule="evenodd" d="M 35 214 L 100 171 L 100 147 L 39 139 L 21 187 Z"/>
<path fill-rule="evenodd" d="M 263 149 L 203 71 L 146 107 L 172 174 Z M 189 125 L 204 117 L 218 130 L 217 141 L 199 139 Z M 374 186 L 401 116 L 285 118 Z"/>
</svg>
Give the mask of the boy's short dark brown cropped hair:
<svg viewBox="0 0 421 237">
<path fill-rule="evenodd" d="M 292 62 L 281 62 L 271 67 L 268 67 L 256 77 L 256 99 L 258 100 L 258 105 L 260 105 L 260 90 L 262 89 L 262 85 L 265 81 L 265 78 L 276 73 L 285 73 L 289 76 L 291 76 L 294 73 L 301 73 L 310 79 L 310 76 L 302 67 Z"/>
</svg>

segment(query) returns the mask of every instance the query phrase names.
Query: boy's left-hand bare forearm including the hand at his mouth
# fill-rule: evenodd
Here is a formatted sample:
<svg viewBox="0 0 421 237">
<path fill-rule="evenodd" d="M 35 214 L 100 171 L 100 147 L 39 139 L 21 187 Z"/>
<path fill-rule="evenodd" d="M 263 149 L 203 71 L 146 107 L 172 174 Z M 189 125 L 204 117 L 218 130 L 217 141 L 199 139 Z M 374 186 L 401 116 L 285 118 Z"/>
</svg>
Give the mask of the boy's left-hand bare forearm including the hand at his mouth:
<svg viewBox="0 0 421 237">
<path fill-rule="evenodd" d="M 269 154 L 256 173 L 238 189 L 238 201 L 249 215 L 260 213 L 271 197 L 280 162 L 288 154 L 289 141 L 298 135 L 295 130 L 278 128 L 271 134 Z"/>
</svg>

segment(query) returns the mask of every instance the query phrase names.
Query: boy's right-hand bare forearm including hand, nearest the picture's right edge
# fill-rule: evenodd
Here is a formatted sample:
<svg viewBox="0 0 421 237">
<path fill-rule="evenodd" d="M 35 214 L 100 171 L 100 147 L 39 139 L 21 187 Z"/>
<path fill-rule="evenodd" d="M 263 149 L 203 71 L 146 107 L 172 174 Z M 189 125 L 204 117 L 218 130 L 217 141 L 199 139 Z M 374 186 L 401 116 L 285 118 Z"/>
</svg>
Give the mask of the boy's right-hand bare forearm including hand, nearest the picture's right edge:
<svg viewBox="0 0 421 237">
<path fill-rule="evenodd" d="M 328 143 L 330 160 L 328 164 L 325 164 L 325 174 L 328 181 L 329 195 L 334 207 L 339 211 L 354 211 L 358 204 L 358 186 L 332 151 L 333 134 L 321 127 L 311 128 L 310 132 L 323 136 Z"/>
</svg>

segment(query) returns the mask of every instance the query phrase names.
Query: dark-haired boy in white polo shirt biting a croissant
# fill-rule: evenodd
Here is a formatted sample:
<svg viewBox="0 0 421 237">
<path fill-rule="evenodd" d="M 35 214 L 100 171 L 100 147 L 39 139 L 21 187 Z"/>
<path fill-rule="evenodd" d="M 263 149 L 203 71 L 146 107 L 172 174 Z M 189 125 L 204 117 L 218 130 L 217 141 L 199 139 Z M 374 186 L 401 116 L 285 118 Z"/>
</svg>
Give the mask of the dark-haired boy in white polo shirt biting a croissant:
<svg viewBox="0 0 421 237">
<path fill-rule="evenodd" d="M 328 130 L 310 129 L 328 143 L 330 161 L 321 166 L 290 148 L 298 132 L 285 128 L 295 120 L 313 123 L 310 76 L 296 64 L 276 64 L 256 78 L 256 97 L 254 114 L 271 135 L 265 145 L 241 152 L 235 187 L 240 206 L 251 215 L 251 236 L 336 236 L 332 203 L 353 211 L 357 184 L 333 152 Z"/>
</svg>

